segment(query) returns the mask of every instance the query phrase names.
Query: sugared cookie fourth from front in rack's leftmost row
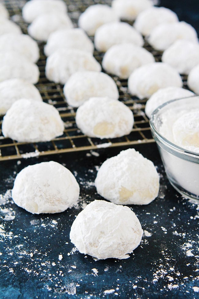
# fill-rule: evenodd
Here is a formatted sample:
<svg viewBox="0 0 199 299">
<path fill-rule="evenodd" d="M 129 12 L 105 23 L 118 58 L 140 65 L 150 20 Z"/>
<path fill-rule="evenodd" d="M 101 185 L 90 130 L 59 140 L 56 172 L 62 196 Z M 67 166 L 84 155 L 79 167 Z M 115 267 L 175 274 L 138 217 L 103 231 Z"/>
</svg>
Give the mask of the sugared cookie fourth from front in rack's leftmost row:
<svg viewBox="0 0 199 299">
<path fill-rule="evenodd" d="M 39 59 L 39 47 L 35 40 L 26 34 L 7 33 L 0 36 L 0 51 L 13 50 L 32 62 Z"/>
</svg>

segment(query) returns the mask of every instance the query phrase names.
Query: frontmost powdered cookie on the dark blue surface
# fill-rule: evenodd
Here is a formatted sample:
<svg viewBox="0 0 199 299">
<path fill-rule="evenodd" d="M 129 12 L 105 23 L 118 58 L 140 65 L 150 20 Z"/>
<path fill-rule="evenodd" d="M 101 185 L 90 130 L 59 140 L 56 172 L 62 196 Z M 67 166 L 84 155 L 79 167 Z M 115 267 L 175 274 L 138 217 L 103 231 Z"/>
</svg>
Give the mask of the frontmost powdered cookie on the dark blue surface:
<svg viewBox="0 0 199 299">
<path fill-rule="evenodd" d="M 88 204 L 70 230 L 77 249 L 97 259 L 128 259 L 142 235 L 140 221 L 130 208 L 103 200 Z"/>
</svg>

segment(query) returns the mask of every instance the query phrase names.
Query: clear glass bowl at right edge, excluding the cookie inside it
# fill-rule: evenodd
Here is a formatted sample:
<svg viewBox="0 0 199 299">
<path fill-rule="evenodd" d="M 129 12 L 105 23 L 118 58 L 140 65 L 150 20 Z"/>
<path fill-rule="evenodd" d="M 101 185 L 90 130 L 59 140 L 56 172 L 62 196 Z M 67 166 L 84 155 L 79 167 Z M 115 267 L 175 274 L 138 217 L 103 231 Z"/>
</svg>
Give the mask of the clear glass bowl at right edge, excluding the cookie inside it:
<svg viewBox="0 0 199 299">
<path fill-rule="evenodd" d="M 151 115 L 150 127 L 171 185 L 185 198 L 198 203 L 199 153 L 179 147 L 160 133 L 165 117 L 170 113 L 181 113 L 184 109 L 199 109 L 199 96 L 172 100 L 159 106 Z M 172 122 L 169 126 L 172 128 Z"/>
</svg>

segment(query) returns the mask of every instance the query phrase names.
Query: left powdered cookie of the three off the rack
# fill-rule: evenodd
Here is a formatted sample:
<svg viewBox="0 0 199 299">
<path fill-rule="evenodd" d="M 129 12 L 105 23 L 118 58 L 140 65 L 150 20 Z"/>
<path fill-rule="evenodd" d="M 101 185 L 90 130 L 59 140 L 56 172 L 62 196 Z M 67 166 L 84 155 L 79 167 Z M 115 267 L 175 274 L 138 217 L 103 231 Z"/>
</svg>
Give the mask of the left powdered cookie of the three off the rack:
<svg viewBox="0 0 199 299">
<path fill-rule="evenodd" d="M 79 191 L 74 175 L 50 161 L 22 169 L 15 178 L 12 198 L 16 205 L 33 214 L 59 213 L 77 203 Z"/>
</svg>

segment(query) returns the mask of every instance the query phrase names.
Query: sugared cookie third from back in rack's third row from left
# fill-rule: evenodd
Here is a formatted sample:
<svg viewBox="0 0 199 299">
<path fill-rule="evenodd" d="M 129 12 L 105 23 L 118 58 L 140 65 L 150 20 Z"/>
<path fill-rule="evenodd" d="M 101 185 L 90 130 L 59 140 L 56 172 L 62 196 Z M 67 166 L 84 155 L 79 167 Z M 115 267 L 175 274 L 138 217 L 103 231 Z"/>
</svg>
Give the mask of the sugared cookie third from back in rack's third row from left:
<svg viewBox="0 0 199 299">
<path fill-rule="evenodd" d="M 137 67 L 152 62 L 155 62 L 155 59 L 146 49 L 125 43 L 108 49 L 103 57 L 102 66 L 108 73 L 127 79 Z"/>
</svg>

